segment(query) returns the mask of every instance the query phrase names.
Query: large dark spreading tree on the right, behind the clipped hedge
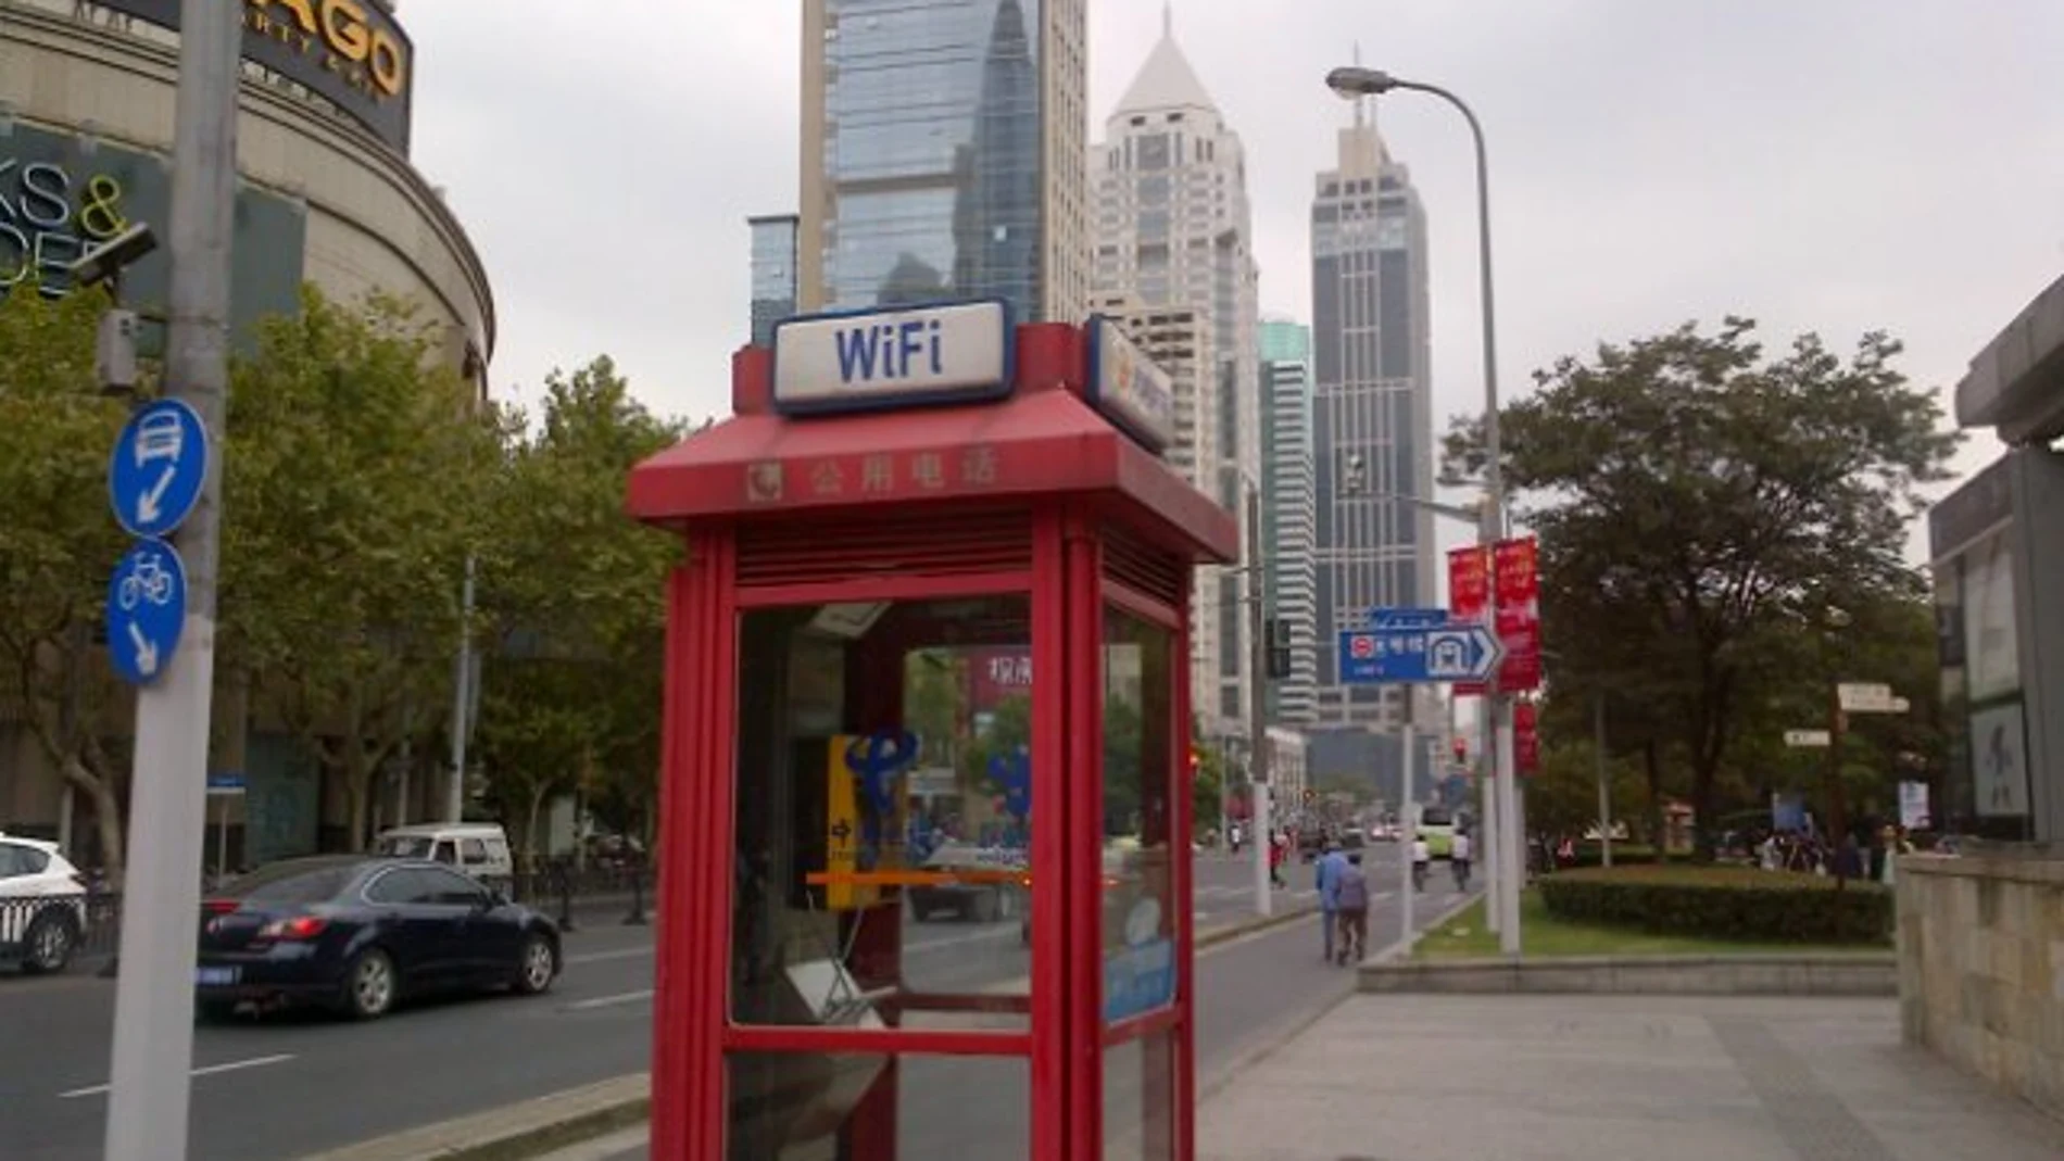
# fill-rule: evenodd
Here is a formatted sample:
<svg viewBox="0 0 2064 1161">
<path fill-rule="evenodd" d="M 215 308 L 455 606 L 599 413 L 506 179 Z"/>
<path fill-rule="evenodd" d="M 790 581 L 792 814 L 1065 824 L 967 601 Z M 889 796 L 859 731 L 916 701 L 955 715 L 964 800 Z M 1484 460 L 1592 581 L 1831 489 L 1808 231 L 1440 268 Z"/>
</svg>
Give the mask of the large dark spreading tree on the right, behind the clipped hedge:
<svg viewBox="0 0 2064 1161">
<path fill-rule="evenodd" d="M 1602 344 L 1503 412 L 1560 668 L 1635 689 L 1659 726 L 1643 744 L 1682 749 L 1701 852 L 1728 749 L 1802 625 L 1917 586 L 1905 524 L 1959 439 L 1893 367 L 1893 338 L 1866 334 L 1843 361 L 1812 334 L 1765 357 L 1752 332 L 1728 318 Z M 1457 423 L 1451 468 L 1482 454 L 1480 427 Z"/>
</svg>

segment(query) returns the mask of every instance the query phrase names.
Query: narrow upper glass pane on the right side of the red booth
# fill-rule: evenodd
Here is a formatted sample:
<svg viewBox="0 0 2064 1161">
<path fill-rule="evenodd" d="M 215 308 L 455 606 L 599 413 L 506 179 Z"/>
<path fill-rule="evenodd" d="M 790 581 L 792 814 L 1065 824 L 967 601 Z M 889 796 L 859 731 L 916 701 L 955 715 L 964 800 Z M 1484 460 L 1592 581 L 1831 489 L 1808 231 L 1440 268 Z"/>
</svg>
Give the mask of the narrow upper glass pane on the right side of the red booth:
<svg viewBox="0 0 2064 1161">
<path fill-rule="evenodd" d="M 1174 633 L 1104 608 L 1104 1023 L 1174 1002 Z"/>
</svg>

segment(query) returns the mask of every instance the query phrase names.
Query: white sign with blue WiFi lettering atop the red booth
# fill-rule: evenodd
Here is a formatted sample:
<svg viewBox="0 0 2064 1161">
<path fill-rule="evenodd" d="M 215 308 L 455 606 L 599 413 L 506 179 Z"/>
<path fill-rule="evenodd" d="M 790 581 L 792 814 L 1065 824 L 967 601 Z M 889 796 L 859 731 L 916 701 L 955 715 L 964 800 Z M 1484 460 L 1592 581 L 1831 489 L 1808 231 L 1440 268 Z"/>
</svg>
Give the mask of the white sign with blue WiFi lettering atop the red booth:
<svg viewBox="0 0 2064 1161">
<path fill-rule="evenodd" d="M 1009 388 L 1009 316 L 999 301 L 774 326 L 774 406 L 788 414 L 987 400 Z"/>
</svg>

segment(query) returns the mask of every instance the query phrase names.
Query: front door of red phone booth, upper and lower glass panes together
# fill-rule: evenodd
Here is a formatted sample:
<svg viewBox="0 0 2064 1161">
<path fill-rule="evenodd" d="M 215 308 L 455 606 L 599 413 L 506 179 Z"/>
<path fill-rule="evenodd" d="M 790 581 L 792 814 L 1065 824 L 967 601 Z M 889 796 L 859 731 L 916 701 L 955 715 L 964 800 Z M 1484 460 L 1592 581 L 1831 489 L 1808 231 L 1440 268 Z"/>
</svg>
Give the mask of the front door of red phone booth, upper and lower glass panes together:
<svg viewBox="0 0 2064 1161">
<path fill-rule="evenodd" d="M 1024 592 L 741 610 L 727 1157 L 1032 1157 L 1032 639 Z"/>
</svg>

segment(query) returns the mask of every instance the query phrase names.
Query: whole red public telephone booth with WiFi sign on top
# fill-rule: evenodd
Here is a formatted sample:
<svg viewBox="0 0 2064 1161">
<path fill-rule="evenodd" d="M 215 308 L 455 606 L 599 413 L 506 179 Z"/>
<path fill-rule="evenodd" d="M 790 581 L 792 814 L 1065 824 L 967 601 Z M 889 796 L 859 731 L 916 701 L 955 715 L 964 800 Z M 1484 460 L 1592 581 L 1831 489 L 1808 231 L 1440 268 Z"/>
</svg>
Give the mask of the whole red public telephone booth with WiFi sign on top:
<svg viewBox="0 0 2064 1161">
<path fill-rule="evenodd" d="M 652 1157 L 1193 1157 L 1189 588 L 1232 516 L 1115 326 L 780 326 L 677 532 Z M 1203 417 L 1199 417 L 1203 419 Z"/>
</svg>

